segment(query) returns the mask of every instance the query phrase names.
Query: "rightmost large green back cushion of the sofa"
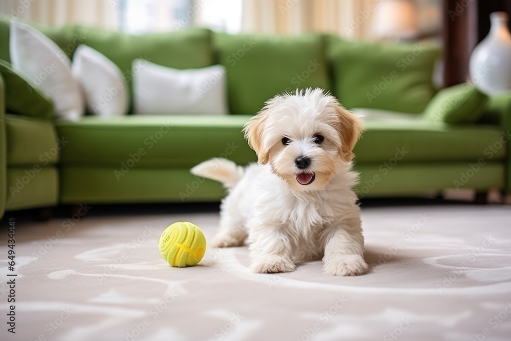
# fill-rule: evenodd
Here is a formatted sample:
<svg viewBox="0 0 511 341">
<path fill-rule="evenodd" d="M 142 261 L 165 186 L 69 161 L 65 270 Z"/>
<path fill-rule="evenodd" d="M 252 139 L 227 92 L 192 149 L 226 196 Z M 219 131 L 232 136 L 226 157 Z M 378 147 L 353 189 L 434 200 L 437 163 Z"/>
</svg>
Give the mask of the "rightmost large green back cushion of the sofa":
<svg viewBox="0 0 511 341">
<path fill-rule="evenodd" d="M 334 95 L 347 108 L 421 113 L 433 97 L 433 69 L 440 49 L 329 37 Z"/>
</svg>

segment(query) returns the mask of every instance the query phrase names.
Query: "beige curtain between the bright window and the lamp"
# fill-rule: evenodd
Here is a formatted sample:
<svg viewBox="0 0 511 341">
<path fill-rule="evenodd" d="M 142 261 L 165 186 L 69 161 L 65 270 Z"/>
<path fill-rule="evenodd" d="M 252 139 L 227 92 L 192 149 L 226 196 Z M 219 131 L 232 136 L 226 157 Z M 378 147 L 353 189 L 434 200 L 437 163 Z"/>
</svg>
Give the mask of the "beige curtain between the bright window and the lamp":
<svg viewBox="0 0 511 341">
<path fill-rule="evenodd" d="M 243 31 L 319 31 L 349 38 L 371 38 L 371 24 L 382 0 L 243 0 Z"/>
</svg>

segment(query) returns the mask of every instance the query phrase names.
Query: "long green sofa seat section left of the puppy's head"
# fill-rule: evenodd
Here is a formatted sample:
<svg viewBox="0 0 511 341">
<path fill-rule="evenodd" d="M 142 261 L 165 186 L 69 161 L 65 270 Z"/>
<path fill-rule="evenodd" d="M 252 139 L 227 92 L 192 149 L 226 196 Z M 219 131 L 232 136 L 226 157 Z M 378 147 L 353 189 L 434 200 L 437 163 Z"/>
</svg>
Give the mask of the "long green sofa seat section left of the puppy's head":
<svg viewBox="0 0 511 341">
<path fill-rule="evenodd" d="M 69 141 L 61 164 L 110 167 L 112 178 L 132 168 L 188 169 L 211 157 L 238 164 L 256 161 L 241 129 L 249 116 L 83 117 L 56 121 Z M 126 166 L 128 168 L 126 168 Z M 114 171 L 117 171 L 114 174 Z"/>
</svg>

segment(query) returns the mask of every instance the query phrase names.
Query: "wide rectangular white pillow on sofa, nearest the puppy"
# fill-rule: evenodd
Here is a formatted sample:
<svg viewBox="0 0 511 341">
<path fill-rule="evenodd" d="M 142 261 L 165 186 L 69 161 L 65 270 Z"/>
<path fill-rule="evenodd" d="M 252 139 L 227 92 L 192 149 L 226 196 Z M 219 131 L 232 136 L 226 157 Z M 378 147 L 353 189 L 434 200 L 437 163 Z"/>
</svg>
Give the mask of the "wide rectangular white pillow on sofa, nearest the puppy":
<svg viewBox="0 0 511 341">
<path fill-rule="evenodd" d="M 225 69 L 221 65 L 178 70 L 135 59 L 132 73 L 136 114 L 228 113 Z"/>
</svg>

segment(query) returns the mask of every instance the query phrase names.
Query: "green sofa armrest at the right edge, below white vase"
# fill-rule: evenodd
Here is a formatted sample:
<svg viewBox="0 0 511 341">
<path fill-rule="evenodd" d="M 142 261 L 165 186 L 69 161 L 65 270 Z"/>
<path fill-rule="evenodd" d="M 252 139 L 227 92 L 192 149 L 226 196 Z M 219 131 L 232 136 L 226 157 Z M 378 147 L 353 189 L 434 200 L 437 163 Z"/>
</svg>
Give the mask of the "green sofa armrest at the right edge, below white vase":
<svg viewBox="0 0 511 341">
<path fill-rule="evenodd" d="M 490 102 L 486 109 L 488 115 L 500 116 L 500 125 L 502 127 L 502 137 L 496 141 L 494 148 L 506 148 L 506 181 L 504 192 L 511 194 L 511 91 L 490 97 Z"/>
</svg>

